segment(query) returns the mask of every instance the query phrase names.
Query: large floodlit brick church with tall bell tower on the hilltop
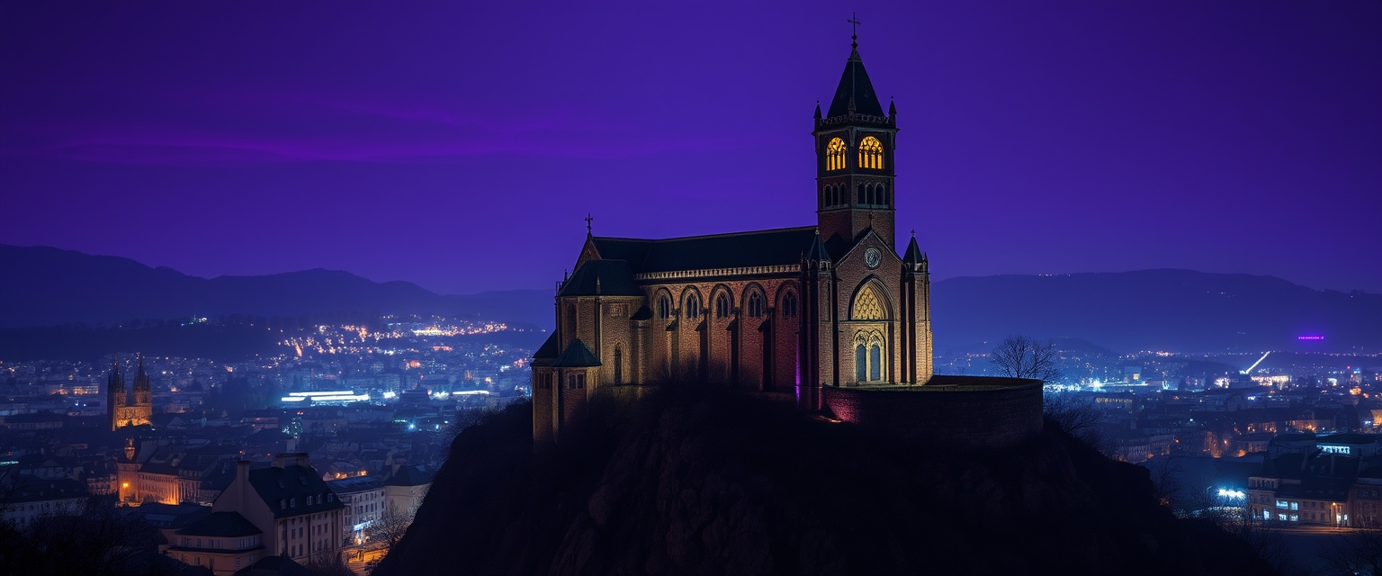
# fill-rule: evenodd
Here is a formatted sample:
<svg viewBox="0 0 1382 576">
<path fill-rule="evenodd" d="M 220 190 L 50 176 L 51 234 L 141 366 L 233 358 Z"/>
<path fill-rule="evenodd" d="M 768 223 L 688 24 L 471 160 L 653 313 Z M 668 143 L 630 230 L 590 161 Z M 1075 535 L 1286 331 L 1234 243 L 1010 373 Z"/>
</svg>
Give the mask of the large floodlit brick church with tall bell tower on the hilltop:
<svg viewBox="0 0 1382 576">
<path fill-rule="evenodd" d="M 915 233 L 897 250 L 897 109 L 883 112 L 857 43 L 814 126 L 813 225 L 634 239 L 587 220 L 532 361 L 536 441 L 607 387 L 694 378 L 821 410 L 825 387 L 931 378 L 926 254 Z"/>
</svg>

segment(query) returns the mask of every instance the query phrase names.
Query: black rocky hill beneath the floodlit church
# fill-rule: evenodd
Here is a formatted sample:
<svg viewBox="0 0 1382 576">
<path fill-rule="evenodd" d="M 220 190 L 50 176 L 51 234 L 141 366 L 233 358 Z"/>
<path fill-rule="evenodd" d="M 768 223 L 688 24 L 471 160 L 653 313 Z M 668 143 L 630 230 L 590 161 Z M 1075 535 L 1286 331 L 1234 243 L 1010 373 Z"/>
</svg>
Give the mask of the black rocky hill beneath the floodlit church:
<svg viewBox="0 0 1382 576">
<path fill-rule="evenodd" d="M 582 439 L 532 456 L 528 410 L 456 436 L 377 575 L 1269 572 L 1054 430 L 947 454 L 683 391 L 596 406 Z"/>
</svg>

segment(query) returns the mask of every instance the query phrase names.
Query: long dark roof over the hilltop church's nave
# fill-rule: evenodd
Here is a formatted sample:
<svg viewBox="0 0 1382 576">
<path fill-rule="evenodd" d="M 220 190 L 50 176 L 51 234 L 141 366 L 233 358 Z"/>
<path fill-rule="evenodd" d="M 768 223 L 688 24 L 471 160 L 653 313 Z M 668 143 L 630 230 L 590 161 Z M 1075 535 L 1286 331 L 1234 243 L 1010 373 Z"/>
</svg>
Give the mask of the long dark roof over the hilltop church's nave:
<svg viewBox="0 0 1382 576">
<path fill-rule="evenodd" d="M 814 227 L 645 240 L 593 238 L 603 260 L 623 260 L 633 273 L 800 264 Z M 641 293 L 640 293 L 641 294 Z"/>
</svg>

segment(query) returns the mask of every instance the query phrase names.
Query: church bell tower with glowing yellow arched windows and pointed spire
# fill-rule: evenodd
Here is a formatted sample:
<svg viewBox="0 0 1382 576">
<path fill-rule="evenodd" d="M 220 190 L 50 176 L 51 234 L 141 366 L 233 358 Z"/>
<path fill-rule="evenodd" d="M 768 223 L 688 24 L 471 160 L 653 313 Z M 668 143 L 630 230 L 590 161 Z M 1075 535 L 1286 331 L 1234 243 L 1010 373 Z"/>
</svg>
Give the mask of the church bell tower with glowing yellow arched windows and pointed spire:
<svg viewBox="0 0 1382 576">
<path fill-rule="evenodd" d="M 857 21 L 851 21 L 857 23 Z M 894 239 L 893 148 L 897 142 L 897 108 L 887 115 L 864 72 L 858 36 L 851 36 L 850 59 L 831 108 L 821 116 L 815 104 L 815 214 L 821 236 L 840 236 L 853 244 L 873 229 L 897 251 Z"/>
</svg>

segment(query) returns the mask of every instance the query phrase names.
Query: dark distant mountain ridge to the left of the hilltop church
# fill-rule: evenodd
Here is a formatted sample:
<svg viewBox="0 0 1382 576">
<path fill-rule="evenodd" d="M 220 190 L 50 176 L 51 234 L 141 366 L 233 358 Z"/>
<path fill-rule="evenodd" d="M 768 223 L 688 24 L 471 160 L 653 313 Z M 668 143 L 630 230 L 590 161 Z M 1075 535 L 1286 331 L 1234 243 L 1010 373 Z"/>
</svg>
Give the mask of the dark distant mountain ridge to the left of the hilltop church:
<svg viewBox="0 0 1382 576">
<path fill-rule="evenodd" d="M 470 314 L 546 325 L 553 314 L 553 294 L 546 290 L 441 296 L 410 282 L 373 282 L 329 269 L 206 279 L 53 247 L 0 244 L 0 327 L 339 311 Z"/>
</svg>

